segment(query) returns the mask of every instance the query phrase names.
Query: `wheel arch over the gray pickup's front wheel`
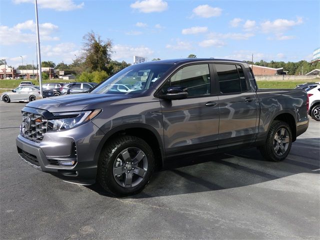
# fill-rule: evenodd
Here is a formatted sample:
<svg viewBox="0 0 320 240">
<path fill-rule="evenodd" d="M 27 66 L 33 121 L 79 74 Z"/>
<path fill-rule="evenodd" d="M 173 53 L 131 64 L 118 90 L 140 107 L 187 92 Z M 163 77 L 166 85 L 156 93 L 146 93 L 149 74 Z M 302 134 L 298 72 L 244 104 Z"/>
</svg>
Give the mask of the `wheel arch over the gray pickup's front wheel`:
<svg viewBox="0 0 320 240">
<path fill-rule="evenodd" d="M 156 168 L 162 168 L 165 153 L 161 137 L 153 127 L 143 123 L 123 124 L 121 126 L 114 127 L 110 131 L 108 131 L 102 137 L 95 152 L 94 159 L 96 160 L 96 162 L 98 162 L 101 150 L 103 146 L 107 143 L 107 141 L 121 134 L 133 135 L 145 140 L 154 152 Z"/>
</svg>

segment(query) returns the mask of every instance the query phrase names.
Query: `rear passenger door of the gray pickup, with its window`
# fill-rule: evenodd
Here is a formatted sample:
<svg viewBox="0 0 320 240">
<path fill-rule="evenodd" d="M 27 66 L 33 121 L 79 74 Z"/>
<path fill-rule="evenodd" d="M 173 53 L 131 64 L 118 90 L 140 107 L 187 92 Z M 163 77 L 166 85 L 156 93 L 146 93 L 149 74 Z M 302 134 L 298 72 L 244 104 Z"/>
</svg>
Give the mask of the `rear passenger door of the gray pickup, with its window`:
<svg viewBox="0 0 320 240">
<path fill-rule="evenodd" d="M 219 147 L 253 141 L 259 105 L 243 66 L 236 63 L 214 63 L 213 66 L 220 91 Z"/>
</svg>

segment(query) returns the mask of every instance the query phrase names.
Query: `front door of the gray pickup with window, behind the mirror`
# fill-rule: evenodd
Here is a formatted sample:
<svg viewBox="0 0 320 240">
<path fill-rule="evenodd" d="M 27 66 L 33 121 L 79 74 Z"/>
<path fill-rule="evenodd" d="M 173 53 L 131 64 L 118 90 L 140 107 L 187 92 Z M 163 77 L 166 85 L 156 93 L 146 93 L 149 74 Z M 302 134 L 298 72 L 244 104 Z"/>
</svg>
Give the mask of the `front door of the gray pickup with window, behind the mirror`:
<svg viewBox="0 0 320 240">
<path fill-rule="evenodd" d="M 162 92 L 169 86 L 188 89 L 185 99 L 160 100 L 167 156 L 217 148 L 219 107 L 212 73 L 207 63 L 183 66 L 160 88 Z"/>
</svg>

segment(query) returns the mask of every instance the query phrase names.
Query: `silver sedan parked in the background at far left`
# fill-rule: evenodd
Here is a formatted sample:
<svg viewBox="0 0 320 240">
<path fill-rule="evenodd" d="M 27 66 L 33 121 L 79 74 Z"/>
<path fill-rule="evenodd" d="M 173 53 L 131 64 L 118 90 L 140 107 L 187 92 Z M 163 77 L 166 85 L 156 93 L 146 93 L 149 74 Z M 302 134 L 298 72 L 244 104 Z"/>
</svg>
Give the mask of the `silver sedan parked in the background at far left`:
<svg viewBox="0 0 320 240">
<path fill-rule="evenodd" d="M 34 86 L 18 86 L 11 91 L 5 91 L 1 94 L 0 100 L 10 101 L 34 101 L 40 95 L 40 90 Z"/>
</svg>

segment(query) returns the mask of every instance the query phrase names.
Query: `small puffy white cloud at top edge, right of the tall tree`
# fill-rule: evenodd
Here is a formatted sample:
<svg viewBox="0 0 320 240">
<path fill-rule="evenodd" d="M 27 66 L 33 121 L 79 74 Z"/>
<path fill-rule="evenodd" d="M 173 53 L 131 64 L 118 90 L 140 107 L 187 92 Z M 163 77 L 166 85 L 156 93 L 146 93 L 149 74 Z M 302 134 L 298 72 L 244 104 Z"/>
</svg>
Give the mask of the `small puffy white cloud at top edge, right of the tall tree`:
<svg viewBox="0 0 320 240">
<path fill-rule="evenodd" d="M 163 0 L 142 0 L 130 4 L 130 7 L 144 13 L 161 12 L 168 8 L 168 3 Z"/>
</svg>

